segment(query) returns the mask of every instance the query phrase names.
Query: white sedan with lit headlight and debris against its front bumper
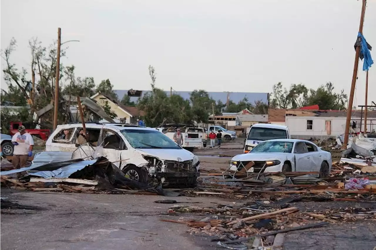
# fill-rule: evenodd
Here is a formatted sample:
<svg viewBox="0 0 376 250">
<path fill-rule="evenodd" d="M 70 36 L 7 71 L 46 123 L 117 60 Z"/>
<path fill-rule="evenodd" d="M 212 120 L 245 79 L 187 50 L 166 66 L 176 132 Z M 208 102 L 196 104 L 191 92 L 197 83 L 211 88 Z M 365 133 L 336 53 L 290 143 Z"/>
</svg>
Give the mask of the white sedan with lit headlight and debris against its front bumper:
<svg viewBox="0 0 376 250">
<path fill-rule="evenodd" d="M 326 178 L 332 168 L 332 155 L 306 140 L 268 140 L 231 159 L 230 170 L 243 168 L 243 172 L 255 173 L 320 172 L 320 178 Z"/>
</svg>

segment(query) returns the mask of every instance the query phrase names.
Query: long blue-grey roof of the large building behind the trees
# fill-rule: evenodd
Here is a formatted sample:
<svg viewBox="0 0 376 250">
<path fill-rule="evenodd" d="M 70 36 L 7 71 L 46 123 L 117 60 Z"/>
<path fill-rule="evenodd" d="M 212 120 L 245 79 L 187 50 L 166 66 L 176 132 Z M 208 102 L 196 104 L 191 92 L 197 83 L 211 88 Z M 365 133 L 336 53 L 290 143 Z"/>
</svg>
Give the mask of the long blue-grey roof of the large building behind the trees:
<svg viewBox="0 0 376 250">
<path fill-rule="evenodd" d="M 118 99 L 122 99 L 124 95 L 128 94 L 128 90 L 114 90 L 118 96 Z M 142 96 L 146 93 L 149 93 L 150 90 L 142 90 Z M 166 94 L 169 96 L 170 91 L 165 91 Z M 190 99 L 191 91 L 174 91 L 174 94 L 180 95 L 184 99 Z M 221 101 L 226 103 L 227 101 L 227 92 L 208 92 L 209 96 L 213 98 L 215 101 Z M 235 103 L 240 102 L 241 100 L 246 97 L 250 103 L 254 103 L 255 101 L 262 101 L 268 104 L 268 93 L 250 93 L 250 92 L 230 92 L 229 99 Z M 130 101 L 136 102 L 138 97 L 130 96 Z"/>
</svg>

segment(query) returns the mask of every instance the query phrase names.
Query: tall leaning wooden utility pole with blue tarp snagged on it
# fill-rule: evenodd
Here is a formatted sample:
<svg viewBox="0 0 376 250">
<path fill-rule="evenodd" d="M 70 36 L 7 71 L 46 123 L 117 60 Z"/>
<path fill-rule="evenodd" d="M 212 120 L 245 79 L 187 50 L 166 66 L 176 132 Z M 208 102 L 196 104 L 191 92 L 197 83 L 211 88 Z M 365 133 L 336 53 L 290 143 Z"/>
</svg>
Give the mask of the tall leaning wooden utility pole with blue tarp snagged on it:
<svg viewBox="0 0 376 250">
<path fill-rule="evenodd" d="M 365 3 L 366 3 L 366 0 L 362 0 L 362 13 L 360 15 L 360 24 L 359 24 L 359 32 L 361 34 L 363 33 Z M 359 39 L 360 38 L 358 38 L 358 40 Z M 358 40 L 357 40 L 357 42 L 358 42 Z M 345 136 L 344 136 L 344 139 L 343 139 L 343 148 L 346 148 L 347 143 L 349 142 L 350 120 L 351 120 L 352 105 L 353 105 L 353 100 L 354 100 L 356 75 L 358 73 L 359 54 L 360 54 L 360 46 L 357 46 L 356 50 L 355 50 L 355 62 L 354 62 L 354 71 L 353 71 L 353 77 L 352 77 L 352 82 L 351 82 L 351 90 L 350 90 L 350 96 L 349 96 L 349 106 L 347 107 L 346 128 L 345 128 Z"/>
</svg>

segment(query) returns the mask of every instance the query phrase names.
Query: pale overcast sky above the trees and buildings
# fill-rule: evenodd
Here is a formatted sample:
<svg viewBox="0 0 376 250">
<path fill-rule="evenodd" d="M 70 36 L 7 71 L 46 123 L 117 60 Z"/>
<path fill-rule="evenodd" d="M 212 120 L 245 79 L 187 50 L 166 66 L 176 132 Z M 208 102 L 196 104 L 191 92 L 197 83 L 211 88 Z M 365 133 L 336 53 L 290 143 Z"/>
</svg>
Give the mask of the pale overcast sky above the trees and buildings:
<svg viewBox="0 0 376 250">
<path fill-rule="evenodd" d="M 12 61 L 30 68 L 28 41 L 49 45 L 62 29 L 65 65 L 76 76 L 109 78 L 115 89 L 271 92 L 273 84 L 331 81 L 350 92 L 359 28 L 357 0 L 14 0 L 2 1 L 0 48 L 18 42 Z M 363 34 L 376 50 L 376 2 L 368 1 Z M 376 54 L 373 59 L 376 61 Z M 4 62 L 1 62 L 4 66 Z M 359 63 L 356 105 L 364 104 Z M 375 101 L 376 64 L 369 72 Z M 0 87 L 5 83 L 1 79 Z"/>
</svg>

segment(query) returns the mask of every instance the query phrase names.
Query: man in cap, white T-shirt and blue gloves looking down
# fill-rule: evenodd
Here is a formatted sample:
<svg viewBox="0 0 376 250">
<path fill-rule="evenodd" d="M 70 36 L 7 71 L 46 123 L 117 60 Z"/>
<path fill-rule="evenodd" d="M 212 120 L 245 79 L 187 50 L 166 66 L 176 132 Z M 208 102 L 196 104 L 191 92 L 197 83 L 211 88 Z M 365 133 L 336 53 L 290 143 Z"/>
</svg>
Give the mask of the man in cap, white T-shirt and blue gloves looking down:
<svg viewBox="0 0 376 250">
<path fill-rule="evenodd" d="M 33 137 L 26 133 L 25 126 L 18 127 L 18 132 L 12 137 L 14 145 L 13 166 L 15 169 L 26 166 L 27 159 L 32 156 L 34 140 Z"/>
</svg>

